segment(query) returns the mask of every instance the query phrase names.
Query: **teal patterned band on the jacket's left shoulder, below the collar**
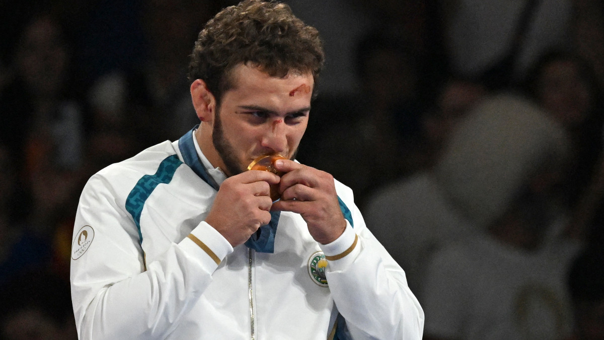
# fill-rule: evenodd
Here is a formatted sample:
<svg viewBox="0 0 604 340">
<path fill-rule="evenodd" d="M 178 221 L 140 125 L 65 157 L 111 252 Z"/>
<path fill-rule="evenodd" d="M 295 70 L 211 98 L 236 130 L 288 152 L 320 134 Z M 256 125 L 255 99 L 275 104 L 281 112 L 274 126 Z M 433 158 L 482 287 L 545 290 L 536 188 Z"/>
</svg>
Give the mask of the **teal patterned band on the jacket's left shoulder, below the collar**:
<svg viewBox="0 0 604 340">
<path fill-rule="evenodd" d="M 138 238 L 143 244 L 143 234 L 141 233 L 141 213 L 147 198 L 158 185 L 170 183 L 176 168 L 182 164 L 177 155 L 166 157 L 159 163 L 157 171 L 153 175 L 144 175 L 138 180 L 137 185 L 132 188 L 126 198 L 126 211 L 132 215 L 134 223 L 137 224 Z"/>
</svg>

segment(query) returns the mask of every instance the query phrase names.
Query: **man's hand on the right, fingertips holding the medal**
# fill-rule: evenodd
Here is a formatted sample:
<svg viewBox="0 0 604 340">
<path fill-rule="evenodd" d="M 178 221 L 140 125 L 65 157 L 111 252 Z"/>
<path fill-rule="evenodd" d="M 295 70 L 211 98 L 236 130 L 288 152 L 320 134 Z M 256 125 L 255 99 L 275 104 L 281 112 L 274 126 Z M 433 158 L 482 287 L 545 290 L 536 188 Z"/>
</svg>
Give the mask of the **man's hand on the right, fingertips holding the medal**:
<svg viewBox="0 0 604 340">
<path fill-rule="evenodd" d="M 281 200 L 272 210 L 297 212 L 304 218 L 315 241 L 327 244 L 340 237 L 346 229 L 339 208 L 333 176 L 292 160 L 277 160 L 275 168 L 286 172 L 281 177 Z"/>
</svg>

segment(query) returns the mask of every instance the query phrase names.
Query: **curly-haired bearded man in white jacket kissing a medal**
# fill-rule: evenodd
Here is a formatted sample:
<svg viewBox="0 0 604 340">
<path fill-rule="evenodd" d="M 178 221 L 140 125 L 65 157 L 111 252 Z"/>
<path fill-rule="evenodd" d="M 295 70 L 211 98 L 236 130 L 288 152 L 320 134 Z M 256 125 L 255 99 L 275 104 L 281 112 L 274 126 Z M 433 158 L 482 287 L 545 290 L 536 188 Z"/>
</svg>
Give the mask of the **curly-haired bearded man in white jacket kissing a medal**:
<svg viewBox="0 0 604 340">
<path fill-rule="evenodd" d="M 322 64 L 318 33 L 284 4 L 208 22 L 190 64 L 201 125 L 101 170 L 80 198 L 80 338 L 422 337 L 405 273 L 350 189 L 293 160 Z M 282 177 L 245 171 L 264 154 L 286 157 Z"/>
</svg>

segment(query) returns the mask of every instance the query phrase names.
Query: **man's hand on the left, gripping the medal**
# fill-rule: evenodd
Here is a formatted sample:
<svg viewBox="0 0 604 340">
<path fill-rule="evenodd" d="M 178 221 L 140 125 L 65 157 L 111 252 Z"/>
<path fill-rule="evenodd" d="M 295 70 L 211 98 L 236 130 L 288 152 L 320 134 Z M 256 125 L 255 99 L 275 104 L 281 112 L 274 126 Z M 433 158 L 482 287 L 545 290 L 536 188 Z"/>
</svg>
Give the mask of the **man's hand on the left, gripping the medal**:
<svg viewBox="0 0 604 340">
<path fill-rule="evenodd" d="M 205 221 L 235 247 L 271 221 L 269 185 L 279 176 L 268 171 L 245 171 L 226 178 Z"/>
</svg>

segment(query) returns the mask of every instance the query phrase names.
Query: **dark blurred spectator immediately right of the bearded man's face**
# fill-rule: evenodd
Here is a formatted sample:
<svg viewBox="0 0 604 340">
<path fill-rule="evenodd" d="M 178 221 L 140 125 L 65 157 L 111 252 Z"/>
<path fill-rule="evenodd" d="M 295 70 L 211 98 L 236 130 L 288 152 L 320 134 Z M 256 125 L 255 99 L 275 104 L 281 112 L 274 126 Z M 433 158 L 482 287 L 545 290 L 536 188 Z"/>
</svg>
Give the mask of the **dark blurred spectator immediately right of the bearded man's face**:
<svg viewBox="0 0 604 340">
<path fill-rule="evenodd" d="M 367 34 L 358 45 L 362 95 L 339 103 L 317 99 L 312 137 L 298 156 L 341 178 L 361 205 L 368 192 L 408 173 L 413 163 L 407 152 L 420 137 L 427 100 L 420 62 L 405 46 L 387 31 Z"/>
</svg>

